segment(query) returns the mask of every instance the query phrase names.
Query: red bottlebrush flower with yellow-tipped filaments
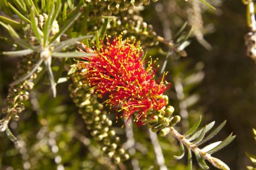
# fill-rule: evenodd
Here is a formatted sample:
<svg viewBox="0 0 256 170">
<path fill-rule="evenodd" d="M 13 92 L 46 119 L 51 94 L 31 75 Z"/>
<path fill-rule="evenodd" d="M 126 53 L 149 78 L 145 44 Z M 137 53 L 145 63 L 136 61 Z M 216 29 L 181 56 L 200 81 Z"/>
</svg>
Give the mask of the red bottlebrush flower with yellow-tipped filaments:
<svg viewBox="0 0 256 170">
<path fill-rule="evenodd" d="M 144 67 L 143 50 L 135 42 L 122 41 L 119 36 L 112 42 L 108 39 L 100 49 L 85 48 L 95 56 L 79 62 L 79 67 L 86 69 L 84 81 L 98 97 L 107 96 L 104 103 L 117 113 L 123 113 L 120 117 L 126 118 L 127 122 L 135 114 L 135 121 L 141 124 L 149 112 L 161 110 L 166 105 L 162 97 L 166 86 L 163 80 L 160 84 L 154 81 L 152 60 L 148 68 Z"/>
</svg>

